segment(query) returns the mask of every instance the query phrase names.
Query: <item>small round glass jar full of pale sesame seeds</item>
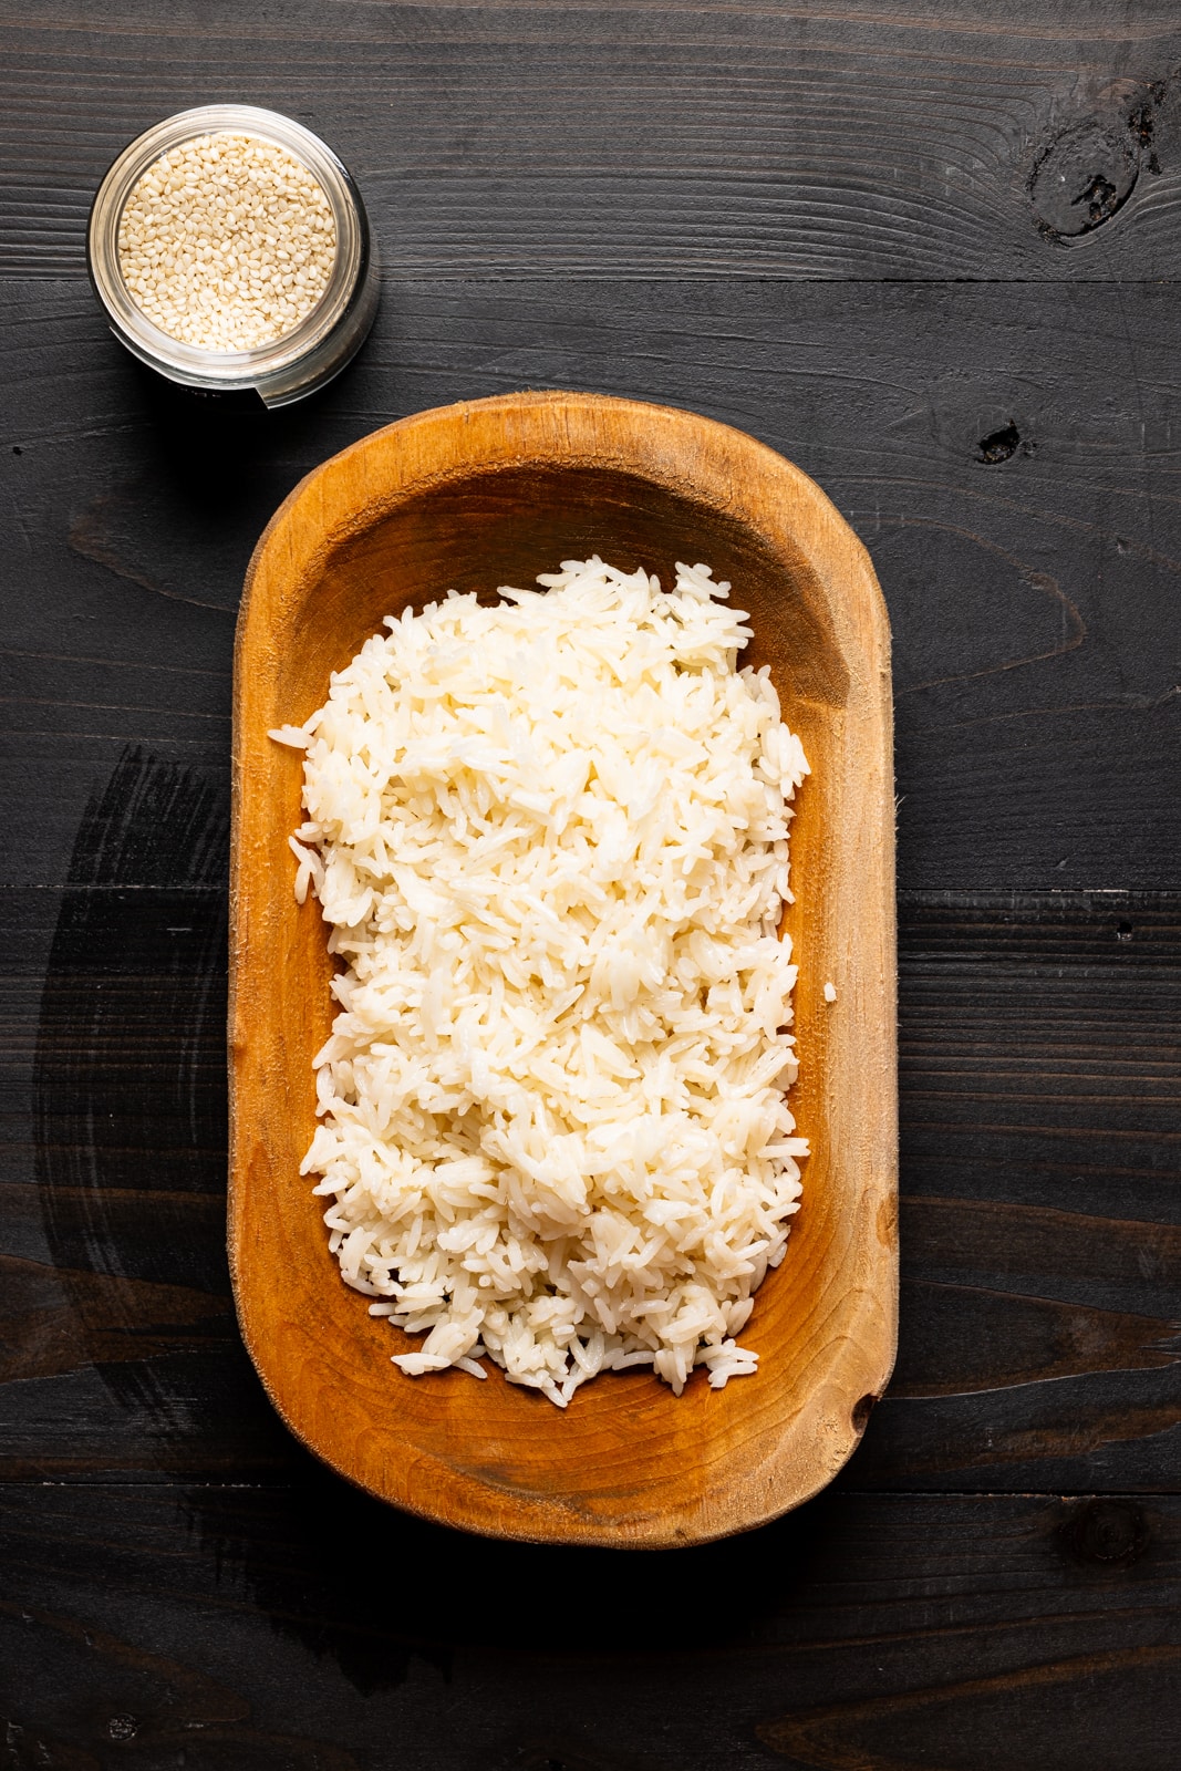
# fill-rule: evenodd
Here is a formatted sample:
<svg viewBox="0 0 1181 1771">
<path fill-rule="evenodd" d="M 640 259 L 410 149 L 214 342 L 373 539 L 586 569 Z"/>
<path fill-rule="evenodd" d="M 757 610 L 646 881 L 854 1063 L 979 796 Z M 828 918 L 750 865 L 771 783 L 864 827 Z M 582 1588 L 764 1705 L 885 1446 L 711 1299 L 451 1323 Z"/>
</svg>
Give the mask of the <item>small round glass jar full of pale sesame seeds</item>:
<svg viewBox="0 0 1181 1771">
<path fill-rule="evenodd" d="M 87 232 L 115 336 L 168 381 L 289 406 L 349 363 L 377 312 L 365 204 L 336 156 L 250 104 L 179 112 L 124 149 Z"/>
</svg>

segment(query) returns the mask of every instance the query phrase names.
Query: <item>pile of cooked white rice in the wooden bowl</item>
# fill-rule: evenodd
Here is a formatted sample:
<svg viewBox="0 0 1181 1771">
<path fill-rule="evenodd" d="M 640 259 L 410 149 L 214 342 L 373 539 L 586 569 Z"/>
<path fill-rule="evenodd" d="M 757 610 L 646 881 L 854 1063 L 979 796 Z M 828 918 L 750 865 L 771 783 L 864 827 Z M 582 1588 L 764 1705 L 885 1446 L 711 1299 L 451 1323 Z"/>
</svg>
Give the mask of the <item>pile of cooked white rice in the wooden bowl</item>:
<svg viewBox="0 0 1181 1771">
<path fill-rule="evenodd" d="M 404 1373 L 721 1387 L 807 1151 L 777 939 L 807 762 L 708 567 L 538 584 L 388 620 L 271 733 L 347 962 L 303 1172 L 343 1279 L 427 1335 Z"/>
</svg>

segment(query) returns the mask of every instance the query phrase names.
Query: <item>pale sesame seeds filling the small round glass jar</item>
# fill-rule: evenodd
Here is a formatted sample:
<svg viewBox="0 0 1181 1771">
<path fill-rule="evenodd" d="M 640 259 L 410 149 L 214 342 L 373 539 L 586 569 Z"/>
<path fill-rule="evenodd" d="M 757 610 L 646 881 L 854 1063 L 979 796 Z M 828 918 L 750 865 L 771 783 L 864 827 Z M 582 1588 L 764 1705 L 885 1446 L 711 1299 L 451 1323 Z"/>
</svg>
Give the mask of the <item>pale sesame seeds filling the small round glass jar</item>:
<svg viewBox="0 0 1181 1771">
<path fill-rule="evenodd" d="M 142 312 L 202 351 L 253 351 L 328 289 L 336 223 L 319 179 L 260 136 L 181 142 L 147 168 L 119 221 L 119 266 Z"/>
</svg>

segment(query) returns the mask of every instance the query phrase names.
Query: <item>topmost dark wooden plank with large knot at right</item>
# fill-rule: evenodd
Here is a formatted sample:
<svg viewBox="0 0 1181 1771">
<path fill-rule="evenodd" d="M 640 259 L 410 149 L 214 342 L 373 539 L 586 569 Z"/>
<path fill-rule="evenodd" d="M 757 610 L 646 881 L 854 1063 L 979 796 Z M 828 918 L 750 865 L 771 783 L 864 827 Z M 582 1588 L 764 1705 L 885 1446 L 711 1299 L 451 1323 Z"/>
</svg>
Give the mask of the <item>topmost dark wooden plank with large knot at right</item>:
<svg viewBox="0 0 1181 1771">
<path fill-rule="evenodd" d="M 131 136 L 244 99 L 352 165 L 391 278 L 1176 278 L 1169 0 L 0 9 L 4 264 L 83 275 Z"/>
</svg>

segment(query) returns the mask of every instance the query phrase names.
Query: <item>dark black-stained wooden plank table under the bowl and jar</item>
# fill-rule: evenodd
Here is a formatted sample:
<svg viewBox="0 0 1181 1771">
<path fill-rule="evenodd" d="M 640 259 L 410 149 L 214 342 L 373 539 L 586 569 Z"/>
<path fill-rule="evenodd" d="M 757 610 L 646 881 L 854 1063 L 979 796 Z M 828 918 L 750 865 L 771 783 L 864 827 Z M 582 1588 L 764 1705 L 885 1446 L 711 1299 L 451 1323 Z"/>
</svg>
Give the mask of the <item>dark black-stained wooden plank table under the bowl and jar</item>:
<svg viewBox="0 0 1181 1771">
<path fill-rule="evenodd" d="M 1181 1764 L 1181 9 L 0 0 L 4 1766 Z M 382 251 L 322 397 L 104 331 L 108 159 L 308 122 Z M 234 611 L 289 487 L 593 388 L 830 492 L 896 639 L 903 1328 L 820 1500 L 662 1555 L 315 1466 L 223 1254 Z"/>
</svg>

